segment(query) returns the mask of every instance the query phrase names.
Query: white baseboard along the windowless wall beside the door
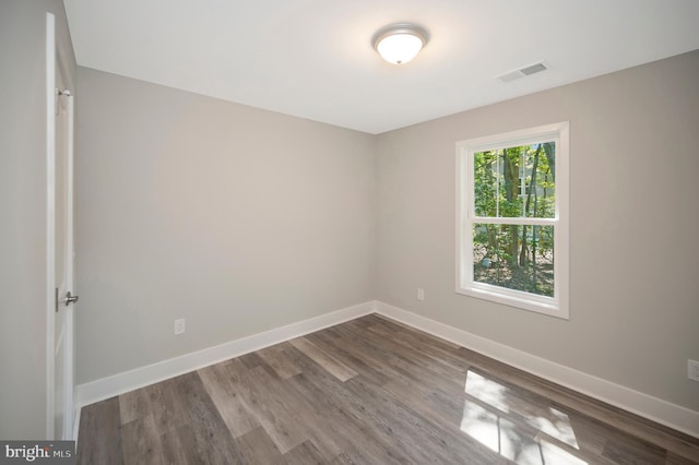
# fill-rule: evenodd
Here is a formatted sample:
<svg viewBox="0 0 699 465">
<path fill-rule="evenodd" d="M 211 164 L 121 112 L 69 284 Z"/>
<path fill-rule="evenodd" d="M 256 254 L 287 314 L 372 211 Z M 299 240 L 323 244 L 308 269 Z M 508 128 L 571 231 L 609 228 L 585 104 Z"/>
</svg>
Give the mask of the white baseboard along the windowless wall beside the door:
<svg viewBox="0 0 699 465">
<path fill-rule="evenodd" d="M 168 360 L 158 361 L 145 367 L 117 373 L 99 380 L 79 384 L 75 388 L 76 407 L 81 408 L 115 395 L 123 394 L 149 384 L 156 383 L 179 374 L 198 370 L 229 358 L 238 357 L 261 348 L 299 337 L 345 321 L 354 320 L 376 309 L 375 301 L 359 303 L 342 310 L 315 317 L 309 320 L 292 323 L 286 326 L 253 334 L 240 339 L 230 341 L 191 354 Z M 80 418 L 80 417 L 78 417 Z"/>
</svg>

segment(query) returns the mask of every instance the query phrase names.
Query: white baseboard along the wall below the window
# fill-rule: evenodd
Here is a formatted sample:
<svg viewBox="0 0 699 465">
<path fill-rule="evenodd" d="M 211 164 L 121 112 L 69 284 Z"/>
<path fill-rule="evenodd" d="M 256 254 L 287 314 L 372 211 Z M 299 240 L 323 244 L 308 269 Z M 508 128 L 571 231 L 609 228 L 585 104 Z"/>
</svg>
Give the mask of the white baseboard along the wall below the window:
<svg viewBox="0 0 699 465">
<path fill-rule="evenodd" d="M 463 330 L 377 301 L 376 311 L 548 381 L 699 438 L 699 412 L 596 378 Z"/>
</svg>

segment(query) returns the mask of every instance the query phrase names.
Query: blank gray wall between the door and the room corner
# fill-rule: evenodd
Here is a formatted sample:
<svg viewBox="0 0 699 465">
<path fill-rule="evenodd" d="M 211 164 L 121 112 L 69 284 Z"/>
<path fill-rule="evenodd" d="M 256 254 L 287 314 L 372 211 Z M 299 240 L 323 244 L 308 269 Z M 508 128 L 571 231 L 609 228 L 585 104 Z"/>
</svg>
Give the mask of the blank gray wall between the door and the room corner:
<svg viewBox="0 0 699 465">
<path fill-rule="evenodd" d="M 78 383 L 374 299 L 371 135 L 78 78 Z"/>
</svg>

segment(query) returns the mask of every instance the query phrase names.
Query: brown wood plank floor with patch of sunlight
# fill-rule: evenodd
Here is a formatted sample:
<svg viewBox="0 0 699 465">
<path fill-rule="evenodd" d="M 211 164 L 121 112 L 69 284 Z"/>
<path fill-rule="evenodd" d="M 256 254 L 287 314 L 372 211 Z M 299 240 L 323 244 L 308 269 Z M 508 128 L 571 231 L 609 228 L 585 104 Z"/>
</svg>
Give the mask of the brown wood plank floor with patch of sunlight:
<svg viewBox="0 0 699 465">
<path fill-rule="evenodd" d="M 80 464 L 691 464 L 699 440 L 380 315 L 82 409 Z"/>
</svg>

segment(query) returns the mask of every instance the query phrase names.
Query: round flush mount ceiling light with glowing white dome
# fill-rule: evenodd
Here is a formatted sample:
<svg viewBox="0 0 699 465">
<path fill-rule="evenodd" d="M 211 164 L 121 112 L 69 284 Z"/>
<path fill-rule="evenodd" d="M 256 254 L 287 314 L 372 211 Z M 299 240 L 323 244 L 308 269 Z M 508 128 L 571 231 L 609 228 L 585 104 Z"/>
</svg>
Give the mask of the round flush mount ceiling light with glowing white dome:
<svg viewBox="0 0 699 465">
<path fill-rule="evenodd" d="M 389 63 L 405 64 L 427 44 L 427 32 L 414 24 L 391 24 L 374 36 L 374 48 Z"/>
</svg>

